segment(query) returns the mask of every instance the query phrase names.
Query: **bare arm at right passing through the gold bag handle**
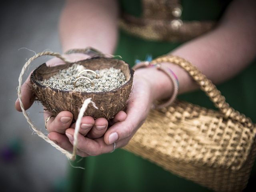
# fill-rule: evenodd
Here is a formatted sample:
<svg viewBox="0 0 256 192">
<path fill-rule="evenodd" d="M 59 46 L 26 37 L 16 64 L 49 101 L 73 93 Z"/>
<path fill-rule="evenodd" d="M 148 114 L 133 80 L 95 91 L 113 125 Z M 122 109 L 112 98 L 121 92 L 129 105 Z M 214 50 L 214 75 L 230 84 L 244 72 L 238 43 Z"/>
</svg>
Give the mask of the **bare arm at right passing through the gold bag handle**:
<svg viewBox="0 0 256 192">
<path fill-rule="evenodd" d="M 256 56 L 255 4 L 254 0 L 234 1 L 216 29 L 183 44 L 170 54 L 189 60 L 215 84 L 228 80 L 245 68 Z M 179 93 L 198 88 L 183 69 L 174 64 L 164 63 L 164 65 L 171 68 L 178 76 Z M 163 73 L 155 72 L 155 74 L 154 79 L 158 80 L 158 85 L 154 97 L 156 99 L 170 97 L 172 83 L 163 77 Z"/>
</svg>

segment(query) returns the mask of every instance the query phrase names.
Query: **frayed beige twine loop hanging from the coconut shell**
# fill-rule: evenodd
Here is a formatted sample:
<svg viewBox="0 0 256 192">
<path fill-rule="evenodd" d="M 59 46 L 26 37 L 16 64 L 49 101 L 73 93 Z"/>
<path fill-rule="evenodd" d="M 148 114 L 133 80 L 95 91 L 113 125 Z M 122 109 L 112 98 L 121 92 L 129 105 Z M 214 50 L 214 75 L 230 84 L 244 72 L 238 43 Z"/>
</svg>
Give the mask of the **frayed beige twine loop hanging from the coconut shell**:
<svg viewBox="0 0 256 192">
<path fill-rule="evenodd" d="M 34 126 L 34 124 L 32 123 L 32 121 L 30 120 L 30 118 L 28 117 L 28 114 L 26 113 L 26 110 L 24 109 L 24 105 L 22 103 L 22 96 L 21 96 L 21 86 L 22 86 L 22 77 L 26 71 L 26 69 L 28 68 L 28 66 L 31 64 L 31 62 L 33 60 L 35 60 L 36 58 L 40 57 L 40 56 L 44 56 L 44 55 L 50 55 L 50 56 L 56 56 L 58 58 L 60 58 L 61 60 L 63 60 L 66 63 L 71 63 L 69 60 L 66 60 L 64 57 L 61 56 L 61 54 L 59 53 L 55 53 L 55 52 L 51 52 L 51 51 L 45 51 L 45 52 L 40 52 L 38 54 L 36 54 L 35 56 L 31 57 L 22 67 L 22 70 L 20 72 L 20 76 L 19 76 L 19 86 L 18 86 L 18 98 L 19 98 L 19 102 L 20 102 L 20 108 L 22 110 L 22 113 L 24 115 L 24 117 L 26 118 L 28 124 L 30 124 L 30 126 L 32 127 L 32 129 L 34 130 L 34 132 L 36 132 L 36 134 L 38 134 L 39 137 L 43 138 L 46 142 L 48 142 L 49 144 L 51 144 L 52 146 L 54 146 L 57 150 L 59 150 L 60 152 L 62 152 L 63 154 L 65 154 L 67 156 L 67 158 L 69 160 L 75 160 L 76 159 L 76 150 L 77 150 L 77 144 L 78 144 L 78 131 L 80 128 L 80 124 L 81 124 L 81 120 L 82 117 L 84 115 L 84 112 L 86 111 L 88 104 L 92 103 L 93 106 L 98 109 L 95 106 L 95 103 L 92 102 L 92 98 L 88 98 L 86 100 L 84 100 L 84 103 L 82 105 L 82 108 L 80 109 L 80 112 L 78 114 L 78 118 L 76 121 L 76 126 L 75 126 L 75 131 L 74 131 L 74 143 L 73 143 L 73 152 L 72 154 L 70 154 L 70 152 L 68 152 L 67 150 L 62 149 L 60 146 L 58 146 L 56 143 L 54 143 L 52 140 L 50 140 L 46 135 L 44 135 L 41 131 L 39 131 L 36 126 Z"/>
</svg>

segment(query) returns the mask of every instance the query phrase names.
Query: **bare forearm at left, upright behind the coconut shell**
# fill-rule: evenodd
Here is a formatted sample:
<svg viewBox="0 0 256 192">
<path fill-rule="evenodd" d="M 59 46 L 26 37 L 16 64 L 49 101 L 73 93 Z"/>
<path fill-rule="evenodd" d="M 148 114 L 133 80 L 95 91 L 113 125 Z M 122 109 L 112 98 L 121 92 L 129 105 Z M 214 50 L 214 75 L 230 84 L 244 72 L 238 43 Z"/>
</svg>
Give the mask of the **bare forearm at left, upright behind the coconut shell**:
<svg viewBox="0 0 256 192">
<path fill-rule="evenodd" d="M 60 17 L 62 50 L 91 46 L 113 53 L 117 41 L 116 0 L 68 0 Z"/>
</svg>

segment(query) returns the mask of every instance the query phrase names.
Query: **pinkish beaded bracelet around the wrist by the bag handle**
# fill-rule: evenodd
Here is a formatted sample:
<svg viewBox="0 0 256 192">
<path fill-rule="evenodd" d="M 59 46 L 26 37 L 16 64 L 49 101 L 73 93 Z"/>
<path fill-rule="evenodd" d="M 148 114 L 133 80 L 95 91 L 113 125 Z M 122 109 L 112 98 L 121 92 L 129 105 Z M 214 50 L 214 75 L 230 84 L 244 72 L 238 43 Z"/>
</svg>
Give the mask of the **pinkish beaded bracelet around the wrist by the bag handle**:
<svg viewBox="0 0 256 192">
<path fill-rule="evenodd" d="M 160 64 L 152 64 L 148 61 L 138 62 L 133 67 L 133 69 L 137 70 L 138 68 L 142 68 L 142 67 L 156 67 L 158 70 L 161 70 L 162 72 L 167 74 L 168 77 L 170 77 L 170 79 L 172 80 L 173 86 L 174 86 L 171 98 L 160 105 L 153 104 L 152 108 L 166 108 L 166 107 L 170 106 L 176 100 L 177 95 L 178 95 L 179 81 L 178 81 L 177 76 L 174 74 L 174 72 L 172 70 L 170 70 L 170 68 L 162 66 Z"/>
</svg>

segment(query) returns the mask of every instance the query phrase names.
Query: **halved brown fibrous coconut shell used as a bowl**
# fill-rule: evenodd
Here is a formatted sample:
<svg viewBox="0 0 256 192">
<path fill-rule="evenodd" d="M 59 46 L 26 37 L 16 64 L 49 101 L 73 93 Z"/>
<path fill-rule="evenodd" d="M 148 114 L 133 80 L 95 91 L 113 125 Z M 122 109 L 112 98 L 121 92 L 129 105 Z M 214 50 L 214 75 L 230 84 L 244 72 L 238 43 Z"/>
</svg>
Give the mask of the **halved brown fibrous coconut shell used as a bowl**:
<svg viewBox="0 0 256 192">
<path fill-rule="evenodd" d="M 73 64 L 83 65 L 86 69 L 90 70 L 100 70 L 110 67 L 117 68 L 124 73 L 127 82 L 117 89 L 106 92 L 58 90 L 48 88 L 39 83 L 39 81 L 48 79 L 60 70 L 69 68 Z M 34 70 L 30 76 L 30 80 L 32 92 L 36 100 L 41 102 L 45 109 L 52 112 L 54 115 L 67 110 L 72 112 L 74 120 L 76 120 L 84 100 L 92 98 L 92 101 L 95 102 L 98 109 L 94 108 L 92 104 L 89 104 L 84 115 L 92 116 L 93 118 L 104 117 L 109 120 L 126 107 L 126 101 L 129 98 L 132 88 L 133 74 L 134 70 L 122 60 L 96 57 L 52 67 L 48 67 L 44 63 Z"/>
</svg>

